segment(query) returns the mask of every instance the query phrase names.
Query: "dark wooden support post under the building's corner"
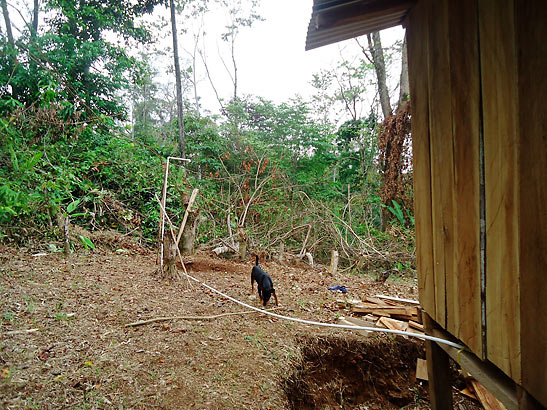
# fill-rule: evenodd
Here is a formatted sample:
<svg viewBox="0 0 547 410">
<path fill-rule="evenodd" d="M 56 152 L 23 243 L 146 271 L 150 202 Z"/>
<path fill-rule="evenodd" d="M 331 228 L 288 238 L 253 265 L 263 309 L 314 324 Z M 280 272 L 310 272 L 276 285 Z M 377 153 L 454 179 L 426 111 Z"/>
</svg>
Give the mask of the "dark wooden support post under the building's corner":
<svg viewBox="0 0 547 410">
<path fill-rule="evenodd" d="M 422 312 L 425 333 L 432 334 L 435 322 Z M 431 340 L 425 341 L 427 375 L 429 378 L 429 398 L 433 410 L 452 410 L 452 381 L 450 380 L 449 356 Z"/>
</svg>

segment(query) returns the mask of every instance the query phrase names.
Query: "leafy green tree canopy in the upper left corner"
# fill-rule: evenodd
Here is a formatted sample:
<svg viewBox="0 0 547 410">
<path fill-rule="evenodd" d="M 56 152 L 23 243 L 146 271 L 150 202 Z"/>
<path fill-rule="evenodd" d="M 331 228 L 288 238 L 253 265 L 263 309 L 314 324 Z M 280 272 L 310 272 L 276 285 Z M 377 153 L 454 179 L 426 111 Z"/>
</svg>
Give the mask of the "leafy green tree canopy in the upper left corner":
<svg viewBox="0 0 547 410">
<path fill-rule="evenodd" d="M 105 34 L 113 33 L 126 44 L 148 41 L 150 34 L 135 21 L 160 3 L 44 2 L 48 16 L 45 34 L 24 31 L 14 46 L 1 40 L 7 52 L 0 55 L 0 84 L 12 86 L 8 101 L 19 101 L 27 107 L 68 102 L 78 106 L 86 118 L 100 114 L 122 117 L 119 91 L 131 83 L 139 64 L 122 42 L 115 44 Z M 0 113 L 5 111 L 5 103 L 0 104 Z M 63 115 L 69 114 L 65 111 Z"/>
</svg>

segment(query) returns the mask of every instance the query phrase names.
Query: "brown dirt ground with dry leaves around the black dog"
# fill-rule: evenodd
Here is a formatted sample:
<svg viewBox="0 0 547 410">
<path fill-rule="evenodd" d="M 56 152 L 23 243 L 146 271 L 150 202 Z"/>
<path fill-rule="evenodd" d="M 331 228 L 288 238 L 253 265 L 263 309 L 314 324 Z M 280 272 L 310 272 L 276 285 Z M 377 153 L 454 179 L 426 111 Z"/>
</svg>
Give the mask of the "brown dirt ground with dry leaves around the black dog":
<svg viewBox="0 0 547 410">
<path fill-rule="evenodd" d="M 364 338 L 260 313 L 203 318 L 247 309 L 199 284 L 161 280 L 153 252 L 124 248 L 80 250 L 68 260 L 40 247 L 0 249 L 0 408 L 429 408 L 427 386 L 415 378 L 421 341 Z M 187 267 L 258 306 L 251 259 L 200 253 Z M 305 265 L 261 265 L 276 287 L 276 313 L 287 316 L 335 323 L 349 315 L 336 299 L 417 299 L 414 279 L 382 284 Z M 345 285 L 347 295 L 332 285 Z M 125 326 L 165 316 L 202 319 Z M 455 401 L 456 409 L 477 408 Z"/>
</svg>

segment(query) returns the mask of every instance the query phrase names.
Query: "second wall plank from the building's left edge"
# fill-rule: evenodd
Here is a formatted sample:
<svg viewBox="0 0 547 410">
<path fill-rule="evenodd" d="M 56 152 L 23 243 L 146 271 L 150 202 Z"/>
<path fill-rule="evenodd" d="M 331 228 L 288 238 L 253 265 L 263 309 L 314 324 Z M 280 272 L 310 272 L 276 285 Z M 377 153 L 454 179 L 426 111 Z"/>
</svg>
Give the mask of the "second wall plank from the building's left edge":
<svg viewBox="0 0 547 410">
<path fill-rule="evenodd" d="M 435 320 L 455 333 L 455 304 L 452 300 L 456 293 L 452 280 L 454 275 L 454 153 L 448 54 L 448 0 L 430 0 L 429 3 L 431 20 L 428 75 Z M 448 303 L 447 298 L 449 298 Z"/>
</svg>

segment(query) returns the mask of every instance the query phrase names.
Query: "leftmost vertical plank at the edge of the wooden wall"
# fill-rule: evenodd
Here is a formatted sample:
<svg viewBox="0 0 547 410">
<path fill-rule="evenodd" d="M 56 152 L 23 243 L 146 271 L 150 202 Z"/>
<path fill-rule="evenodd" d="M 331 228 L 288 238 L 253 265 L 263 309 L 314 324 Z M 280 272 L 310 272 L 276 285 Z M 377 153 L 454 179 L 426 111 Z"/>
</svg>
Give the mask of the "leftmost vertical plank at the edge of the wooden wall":
<svg viewBox="0 0 547 410">
<path fill-rule="evenodd" d="M 429 13 L 424 1 L 408 16 L 408 74 L 412 110 L 412 166 L 414 168 L 414 219 L 416 264 L 420 304 L 436 317 L 433 228 L 431 219 L 431 170 L 429 146 Z"/>
</svg>

